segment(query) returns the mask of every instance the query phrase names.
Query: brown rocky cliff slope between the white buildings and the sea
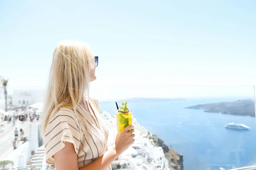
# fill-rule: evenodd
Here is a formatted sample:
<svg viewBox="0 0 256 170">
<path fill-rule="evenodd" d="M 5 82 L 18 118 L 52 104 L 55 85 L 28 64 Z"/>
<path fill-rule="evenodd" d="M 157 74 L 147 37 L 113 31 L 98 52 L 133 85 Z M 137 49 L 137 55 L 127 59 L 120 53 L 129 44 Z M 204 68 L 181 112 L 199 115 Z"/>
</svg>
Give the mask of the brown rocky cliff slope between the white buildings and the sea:
<svg viewBox="0 0 256 170">
<path fill-rule="evenodd" d="M 183 155 L 177 153 L 177 151 L 173 150 L 171 147 L 167 146 L 162 139 L 159 139 L 156 135 L 150 137 L 153 139 L 154 144 L 156 146 L 160 146 L 163 148 L 163 152 L 165 154 L 166 159 L 169 163 L 170 170 L 183 170 Z"/>
</svg>

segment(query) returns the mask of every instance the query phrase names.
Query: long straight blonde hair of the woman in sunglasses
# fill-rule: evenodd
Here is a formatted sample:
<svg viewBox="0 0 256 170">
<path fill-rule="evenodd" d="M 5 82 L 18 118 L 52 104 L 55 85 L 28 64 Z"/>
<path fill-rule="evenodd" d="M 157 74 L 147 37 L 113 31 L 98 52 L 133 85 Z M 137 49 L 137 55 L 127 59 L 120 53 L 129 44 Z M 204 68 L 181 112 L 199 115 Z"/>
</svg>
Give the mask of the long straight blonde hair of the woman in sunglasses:
<svg viewBox="0 0 256 170">
<path fill-rule="evenodd" d="M 93 67 L 94 56 L 86 43 L 65 40 L 55 47 L 41 116 L 42 138 L 50 118 L 60 108 L 76 110 L 89 91 L 90 70 Z"/>
</svg>

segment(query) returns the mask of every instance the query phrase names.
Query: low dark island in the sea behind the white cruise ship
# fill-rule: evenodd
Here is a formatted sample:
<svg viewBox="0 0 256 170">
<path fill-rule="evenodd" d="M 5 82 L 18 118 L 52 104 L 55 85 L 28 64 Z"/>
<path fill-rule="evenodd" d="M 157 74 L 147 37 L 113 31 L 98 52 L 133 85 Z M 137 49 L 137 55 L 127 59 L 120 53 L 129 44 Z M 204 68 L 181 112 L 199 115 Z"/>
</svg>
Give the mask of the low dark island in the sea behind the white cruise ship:
<svg viewBox="0 0 256 170">
<path fill-rule="evenodd" d="M 255 105 L 253 100 L 237 100 L 233 102 L 209 103 L 203 105 L 189 106 L 186 109 L 200 109 L 208 113 L 221 113 L 255 117 Z"/>
</svg>

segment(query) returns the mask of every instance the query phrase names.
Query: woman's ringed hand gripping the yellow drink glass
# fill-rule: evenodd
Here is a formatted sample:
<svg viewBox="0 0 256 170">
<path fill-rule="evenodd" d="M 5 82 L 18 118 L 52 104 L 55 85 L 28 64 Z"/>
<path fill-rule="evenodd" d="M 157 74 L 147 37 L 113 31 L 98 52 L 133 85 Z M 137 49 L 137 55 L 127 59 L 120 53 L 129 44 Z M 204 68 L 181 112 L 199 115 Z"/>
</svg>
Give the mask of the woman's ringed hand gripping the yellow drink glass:
<svg viewBox="0 0 256 170">
<path fill-rule="evenodd" d="M 131 146 L 131 144 L 134 143 L 134 137 L 135 135 L 129 132 L 129 129 L 133 128 L 133 125 L 129 125 L 127 127 L 125 127 L 124 130 L 122 130 L 121 133 L 116 135 L 116 141 L 115 141 L 115 145 L 114 148 L 116 150 L 116 154 L 120 155 L 121 153 L 123 153 L 125 150 L 128 149 L 128 147 Z M 131 130 L 132 133 L 134 133 L 134 129 Z"/>
</svg>

